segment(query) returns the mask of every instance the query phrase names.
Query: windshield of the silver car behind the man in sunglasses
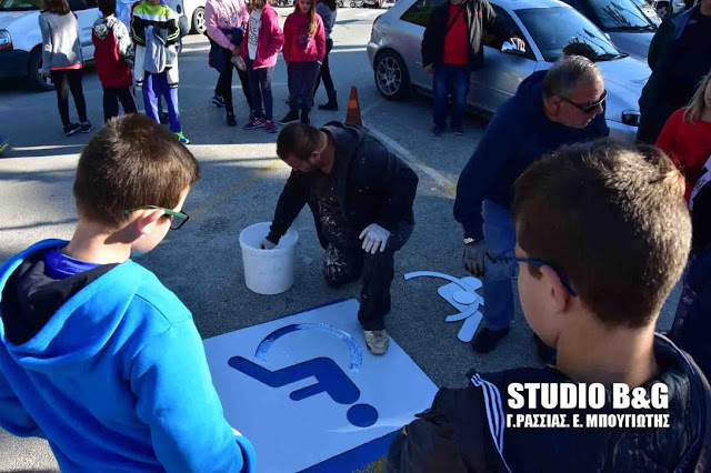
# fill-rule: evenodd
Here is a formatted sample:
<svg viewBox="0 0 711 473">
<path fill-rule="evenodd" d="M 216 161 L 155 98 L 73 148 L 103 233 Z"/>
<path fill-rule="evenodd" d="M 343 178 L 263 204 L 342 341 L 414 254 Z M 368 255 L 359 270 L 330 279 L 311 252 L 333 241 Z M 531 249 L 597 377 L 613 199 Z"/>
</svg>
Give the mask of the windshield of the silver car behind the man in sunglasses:
<svg viewBox="0 0 711 473">
<path fill-rule="evenodd" d="M 572 8 L 524 8 L 515 13 L 548 62 L 560 59 L 563 47 L 571 42 L 590 44 L 601 61 L 625 57 L 598 27 Z"/>
</svg>

